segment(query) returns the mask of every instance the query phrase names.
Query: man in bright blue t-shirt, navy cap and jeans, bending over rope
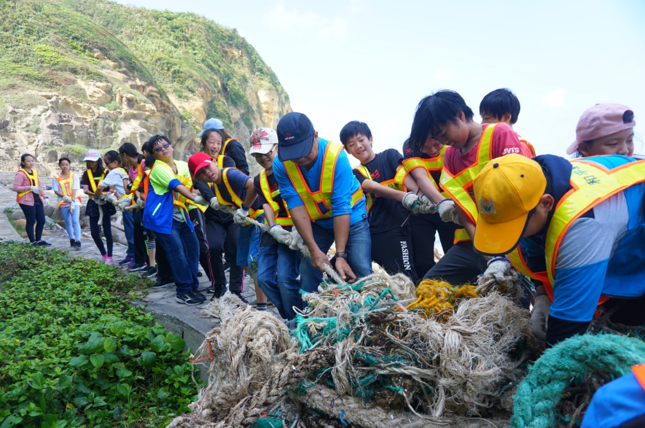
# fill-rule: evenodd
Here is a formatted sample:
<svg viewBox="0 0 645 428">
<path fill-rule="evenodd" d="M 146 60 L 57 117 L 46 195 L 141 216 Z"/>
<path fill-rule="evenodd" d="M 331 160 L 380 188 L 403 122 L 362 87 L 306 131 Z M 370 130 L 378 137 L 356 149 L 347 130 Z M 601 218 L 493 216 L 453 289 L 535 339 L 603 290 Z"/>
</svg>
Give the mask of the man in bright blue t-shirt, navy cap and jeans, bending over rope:
<svg viewBox="0 0 645 428">
<path fill-rule="evenodd" d="M 301 113 L 283 116 L 277 134 L 273 174 L 296 228 L 293 241 L 301 237 L 311 253 L 311 261 L 300 265 L 302 289 L 317 290 L 334 242 L 336 270 L 344 281 L 370 274 L 372 245 L 365 197 L 343 146 L 319 139 Z"/>
</svg>

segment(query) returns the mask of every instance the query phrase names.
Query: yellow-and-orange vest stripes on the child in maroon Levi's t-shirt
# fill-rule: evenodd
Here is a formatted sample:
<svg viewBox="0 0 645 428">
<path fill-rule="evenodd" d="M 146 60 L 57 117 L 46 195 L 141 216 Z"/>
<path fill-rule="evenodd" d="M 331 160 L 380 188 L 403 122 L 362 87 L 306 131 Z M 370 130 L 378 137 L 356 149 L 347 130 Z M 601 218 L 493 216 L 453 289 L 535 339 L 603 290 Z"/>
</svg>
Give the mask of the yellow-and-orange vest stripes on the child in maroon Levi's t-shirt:
<svg viewBox="0 0 645 428">
<path fill-rule="evenodd" d="M 466 189 L 491 159 L 490 142 L 493 141 L 493 131 L 496 126 L 497 123 L 486 125 L 486 129 L 484 129 L 482 136 L 479 138 L 477 161 L 473 165 L 454 176 L 444 168 L 441 171 L 441 179 L 439 179 L 441 187 L 459 207 L 462 207 L 462 210 L 466 212 L 466 215 L 473 223 L 477 223 L 477 205 L 475 205 L 475 201 L 470 197 Z"/>
</svg>

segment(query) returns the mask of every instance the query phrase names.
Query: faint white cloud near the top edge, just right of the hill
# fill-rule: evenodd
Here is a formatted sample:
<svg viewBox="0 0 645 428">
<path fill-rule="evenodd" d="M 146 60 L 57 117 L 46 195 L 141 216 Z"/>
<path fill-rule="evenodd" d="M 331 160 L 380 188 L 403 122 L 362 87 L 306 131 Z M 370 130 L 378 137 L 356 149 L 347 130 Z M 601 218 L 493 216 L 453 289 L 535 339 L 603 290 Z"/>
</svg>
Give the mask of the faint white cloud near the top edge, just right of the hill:
<svg viewBox="0 0 645 428">
<path fill-rule="evenodd" d="M 282 1 L 268 11 L 267 18 L 274 30 L 299 38 L 312 36 L 325 42 L 342 40 L 347 35 L 348 22 L 344 19 L 329 19 L 314 12 L 287 9 Z"/>
</svg>

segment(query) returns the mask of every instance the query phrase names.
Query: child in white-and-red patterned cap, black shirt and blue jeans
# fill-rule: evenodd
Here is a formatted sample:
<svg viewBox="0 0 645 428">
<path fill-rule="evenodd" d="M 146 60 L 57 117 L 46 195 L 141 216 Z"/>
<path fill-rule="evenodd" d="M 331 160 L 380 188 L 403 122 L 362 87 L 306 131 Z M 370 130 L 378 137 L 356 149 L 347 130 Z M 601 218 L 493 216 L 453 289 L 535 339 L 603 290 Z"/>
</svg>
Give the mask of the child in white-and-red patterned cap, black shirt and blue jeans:
<svg viewBox="0 0 645 428">
<path fill-rule="evenodd" d="M 300 297 L 300 252 L 278 243 L 276 238 L 291 235 L 293 221 L 286 210 L 273 175 L 273 159 L 278 152 L 278 136 L 270 128 L 259 128 L 250 138 L 250 155 L 264 171 L 253 179 L 253 185 L 264 209 L 268 233 L 260 234 L 257 255 L 257 283 L 286 320 L 295 318 L 293 307 L 303 309 Z"/>
</svg>

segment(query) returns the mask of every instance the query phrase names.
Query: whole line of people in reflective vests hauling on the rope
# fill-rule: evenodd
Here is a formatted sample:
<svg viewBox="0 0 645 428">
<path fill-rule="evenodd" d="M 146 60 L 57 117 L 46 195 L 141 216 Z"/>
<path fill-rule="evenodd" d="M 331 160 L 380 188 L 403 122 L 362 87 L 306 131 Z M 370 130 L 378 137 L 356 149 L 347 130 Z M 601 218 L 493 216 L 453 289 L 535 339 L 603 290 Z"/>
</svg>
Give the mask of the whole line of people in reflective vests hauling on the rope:
<svg viewBox="0 0 645 428">
<path fill-rule="evenodd" d="M 435 92 L 417 105 L 402 153 L 377 152 L 366 123 L 347 123 L 339 144 L 291 112 L 275 130 L 250 136 L 249 154 L 262 167 L 255 177 L 243 146 L 208 119 L 202 151 L 188 162 L 155 135 L 141 153 L 130 143 L 103 156 L 90 150 L 80 181 L 60 159 L 52 187 L 77 249 L 83 186 L 92 237 L 108 264 L 110 216 L 115 205 L 125 207 L 128 256 L 119 263 L 156 274 L 157 288 L 174 284 L 186 305 L 206 300 L 201 264 L 213 298 L 227 290 L 242 298 L 246 271 L 257 309 L 270 300 L 290 320 L 303 309 L 301 291 L 316 292 L 330 267 L 352 283 L 375 261 L 415 282 L 454 285 L 503 283 L 516 269 L 533 284 L 523 304 L 532 306 L 533 330 L 547 346 L 584 333 L 602 312 L 616 323 L 645 324 L 645 160 L 633 153 L 633 111 L 586 110 L 566 150 L 572 159 L 564 159 L 538 156 L 539 147 L 513 130 L 519 110 L 513 92 L 495 90 L 479 104 L 477 123 L 457 92 Z M 33 161 L 22 156 L 14 190 L 30 241 L 48 245 Z M 444 256 L 435 263 L 437 233 Z"/>
</svg>

